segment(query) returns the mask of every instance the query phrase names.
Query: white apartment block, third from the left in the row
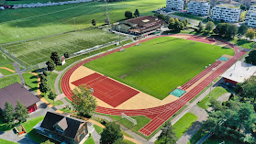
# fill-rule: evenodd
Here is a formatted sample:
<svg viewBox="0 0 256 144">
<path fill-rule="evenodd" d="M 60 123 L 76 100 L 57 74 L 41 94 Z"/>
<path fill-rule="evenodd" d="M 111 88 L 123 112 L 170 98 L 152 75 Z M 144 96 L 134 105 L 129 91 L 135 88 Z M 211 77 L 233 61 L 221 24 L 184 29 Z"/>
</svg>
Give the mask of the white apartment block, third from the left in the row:
<svg viewBox="0 0 256 144">
<path fill-rule="evenodd" d="M 212 8 L 211 17 L 213 19 L 234 23 L 239 21 L 240 8 L 232 5 L 218 5 Z"/>
</svg>

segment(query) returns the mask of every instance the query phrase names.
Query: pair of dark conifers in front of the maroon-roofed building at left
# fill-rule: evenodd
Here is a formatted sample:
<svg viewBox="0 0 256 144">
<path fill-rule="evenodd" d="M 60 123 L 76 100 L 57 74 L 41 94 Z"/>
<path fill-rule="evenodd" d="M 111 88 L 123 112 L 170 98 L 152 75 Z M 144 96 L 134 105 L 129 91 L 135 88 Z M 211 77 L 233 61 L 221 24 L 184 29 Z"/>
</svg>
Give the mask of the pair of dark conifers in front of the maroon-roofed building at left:
<svg viewBox="0 0 256 144">
<path fill-rule="evenodd" d="M 17 101 L 17 105 L 14 108 L 9 102 L 6 102 L 5 109 L 3 109 L 3 116 L 7 126 L 12 127 L 14 125 L 15 119 L 18 120 L 19 123 L 23 123 L 27 121 L 28 109 L 21 102 Z"/>
</svg>

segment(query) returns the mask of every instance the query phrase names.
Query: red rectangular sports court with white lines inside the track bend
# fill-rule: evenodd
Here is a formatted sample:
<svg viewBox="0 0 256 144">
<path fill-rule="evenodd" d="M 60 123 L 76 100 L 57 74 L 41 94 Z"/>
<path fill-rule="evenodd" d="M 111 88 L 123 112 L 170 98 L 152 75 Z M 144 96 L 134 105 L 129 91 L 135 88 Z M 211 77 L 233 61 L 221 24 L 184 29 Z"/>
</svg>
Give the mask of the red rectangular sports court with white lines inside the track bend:
<svg viewBox="0 0 256 144">
<path fill-rule="evenodd" d="M 139 94 L 139 91 L 129 88 L 122 83 L 117 83 L 107 78 L 106 75 L 101 75 L 97 72 L 72 82 L 72 84 L 76 86 L 86 84 L 94 88 L 94 95 L 113 107 L 117 107 L 134 95 Z"/>
</svg>

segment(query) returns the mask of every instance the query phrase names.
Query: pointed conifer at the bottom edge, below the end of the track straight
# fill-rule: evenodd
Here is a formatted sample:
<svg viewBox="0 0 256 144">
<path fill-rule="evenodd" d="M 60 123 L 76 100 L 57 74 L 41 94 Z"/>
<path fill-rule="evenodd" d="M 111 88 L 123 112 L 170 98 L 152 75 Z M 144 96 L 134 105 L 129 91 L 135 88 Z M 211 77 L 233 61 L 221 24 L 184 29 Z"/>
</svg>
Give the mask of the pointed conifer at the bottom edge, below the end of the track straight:
<svg viewBox="0 0 256 144">
<path fill-rule="evenodd" d="M 175 144 L 177 137 L 175 132 L 173 132 L 174 127 L 172 126 L 171 121 L 167 121 L 164 126 L 161 128 L 161 134 L 157 138 L 159 144 Z"/>
</svg>

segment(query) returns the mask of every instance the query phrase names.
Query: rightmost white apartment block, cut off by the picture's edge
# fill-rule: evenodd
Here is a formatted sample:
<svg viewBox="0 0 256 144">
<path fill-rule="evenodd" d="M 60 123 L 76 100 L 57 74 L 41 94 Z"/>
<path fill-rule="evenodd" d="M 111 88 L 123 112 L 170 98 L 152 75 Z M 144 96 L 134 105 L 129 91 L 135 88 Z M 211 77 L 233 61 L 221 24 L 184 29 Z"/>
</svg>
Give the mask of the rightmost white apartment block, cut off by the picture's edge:
<svg viewBox="0 0 256 144">
<path fill-rule="evenodd" d="M 256 5 L 250 6 L 248 13 L 245 15 L 245 24 L 249 27 L 256 27 Z"/>
</svg>

